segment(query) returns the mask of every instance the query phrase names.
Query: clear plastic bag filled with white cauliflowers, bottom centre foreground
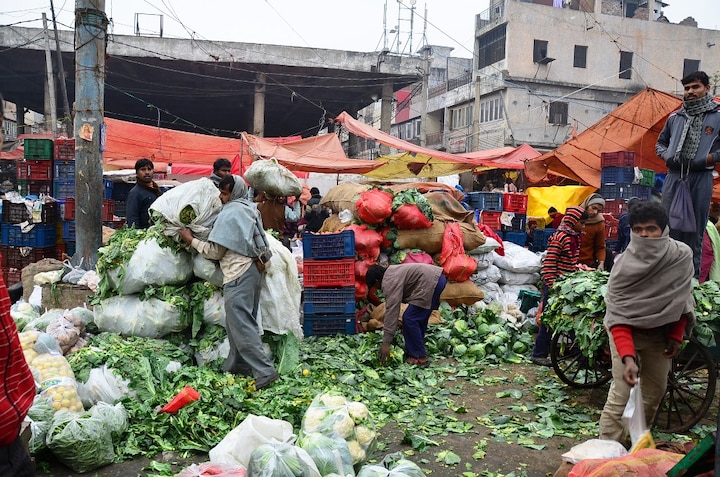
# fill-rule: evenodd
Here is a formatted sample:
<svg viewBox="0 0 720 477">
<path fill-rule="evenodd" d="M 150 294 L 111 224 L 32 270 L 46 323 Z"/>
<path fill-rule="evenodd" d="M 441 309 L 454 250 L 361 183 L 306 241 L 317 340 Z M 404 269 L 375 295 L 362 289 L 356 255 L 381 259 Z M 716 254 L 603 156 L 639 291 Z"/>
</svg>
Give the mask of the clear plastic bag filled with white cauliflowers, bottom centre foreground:
<svg viewBox="0 0 720 477">
<path fill-rule="evenodd" d="M 344 396 L 324 393 L 315 396 L 302 420 L 301 436 L 319 432 L 343 438 L 353 464 L 365 461 L 375 442 L 375 424 L 367 406 Z"/>
</svg>

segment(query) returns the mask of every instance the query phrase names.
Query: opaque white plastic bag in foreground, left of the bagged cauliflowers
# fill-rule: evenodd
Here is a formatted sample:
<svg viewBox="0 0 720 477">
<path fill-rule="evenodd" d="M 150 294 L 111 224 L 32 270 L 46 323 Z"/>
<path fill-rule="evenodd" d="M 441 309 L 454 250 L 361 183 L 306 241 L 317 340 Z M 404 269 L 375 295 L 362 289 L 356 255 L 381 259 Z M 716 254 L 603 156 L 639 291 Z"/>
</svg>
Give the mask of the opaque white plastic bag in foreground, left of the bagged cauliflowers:
<svg viewBox="0 0 720 477">
<path fill-rule="evenodd" d="M 294 436 L 292 424 L 281 419 L 248 414 L 218 445 L 210 449 L 210 462 L 247 467 L 250 454 L 262 444 L 285 442 Z"/>
</svg>

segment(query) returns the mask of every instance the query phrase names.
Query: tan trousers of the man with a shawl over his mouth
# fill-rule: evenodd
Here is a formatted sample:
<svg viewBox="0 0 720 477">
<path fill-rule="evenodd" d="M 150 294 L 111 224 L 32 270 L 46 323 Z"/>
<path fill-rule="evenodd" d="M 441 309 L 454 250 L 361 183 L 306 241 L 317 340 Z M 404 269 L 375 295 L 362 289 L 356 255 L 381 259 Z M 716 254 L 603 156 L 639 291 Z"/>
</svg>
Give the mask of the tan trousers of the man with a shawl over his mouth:
<svg viewBox="0 0 720 477">
<path fill-rule="evenodd" d="M 610 384 L 608 397 L 600 415 L 600 439 L 613 440 L 628 444 L 628 432 L 622 422 L 622 414 L 630 397 L 630 386 L 623 380 L 625 365 L 617 352 L 612 335 L 609 335 L 610 354 L 612 356 L 613 381 Z M 645 422 L 648 425 L 655 419 L 655 413 L 667 388 L 667 378 L 672 360 L 663 356 L 667 345 L 667 331 L 634 330 L 635 354 L 640 370 L 640 386 L 642 386 Z"/>
</svg>

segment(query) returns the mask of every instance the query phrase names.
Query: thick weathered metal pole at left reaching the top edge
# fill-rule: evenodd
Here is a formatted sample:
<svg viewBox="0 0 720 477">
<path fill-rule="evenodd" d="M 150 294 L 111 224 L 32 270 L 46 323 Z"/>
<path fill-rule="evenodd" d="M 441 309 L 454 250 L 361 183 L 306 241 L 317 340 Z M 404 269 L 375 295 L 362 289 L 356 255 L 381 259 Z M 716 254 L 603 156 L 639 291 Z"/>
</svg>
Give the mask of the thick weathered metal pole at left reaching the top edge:
<svg viewBox="0 0 720 477">
<path fill-rule="evenodd" d="M 72 263 L 92 270 L 102 245 L 105 0 L 75 2 L 75 230 Z"/>
</svg>

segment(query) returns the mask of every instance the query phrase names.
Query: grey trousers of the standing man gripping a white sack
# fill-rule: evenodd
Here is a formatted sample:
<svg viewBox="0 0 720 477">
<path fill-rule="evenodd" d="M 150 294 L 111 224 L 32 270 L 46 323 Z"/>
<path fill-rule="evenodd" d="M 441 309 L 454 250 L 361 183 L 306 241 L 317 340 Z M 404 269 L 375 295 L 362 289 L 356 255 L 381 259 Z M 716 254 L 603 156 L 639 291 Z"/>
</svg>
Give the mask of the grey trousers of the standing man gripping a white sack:
<svg viewBox="0 0 720 477">
<path fill-rule="evenodd" d="M 252 375 L 255 379 L 275 374 L 272 360 L 263 349 L 257 323 L 260 278 L 260 271 L 252 264 L 245 273 L 223 287 L 230 344 L 230 353 L 223 369 L 231 373 Z"/>
</svg>

